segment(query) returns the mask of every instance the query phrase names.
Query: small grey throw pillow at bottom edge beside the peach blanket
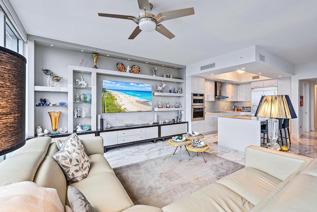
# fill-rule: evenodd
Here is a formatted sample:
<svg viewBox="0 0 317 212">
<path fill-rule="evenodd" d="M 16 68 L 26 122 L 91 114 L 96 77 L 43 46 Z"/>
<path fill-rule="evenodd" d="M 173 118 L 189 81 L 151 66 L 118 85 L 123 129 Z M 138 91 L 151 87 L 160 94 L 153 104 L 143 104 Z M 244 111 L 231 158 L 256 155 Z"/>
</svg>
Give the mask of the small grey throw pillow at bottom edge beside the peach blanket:
<svg viewBox="0 0 317 212">
<path fill-rule="evenodd" d="M 77 188 L 68 186 L 68 202 L 74 212 L 94 212 L 94 208 Z"/>
</svg>

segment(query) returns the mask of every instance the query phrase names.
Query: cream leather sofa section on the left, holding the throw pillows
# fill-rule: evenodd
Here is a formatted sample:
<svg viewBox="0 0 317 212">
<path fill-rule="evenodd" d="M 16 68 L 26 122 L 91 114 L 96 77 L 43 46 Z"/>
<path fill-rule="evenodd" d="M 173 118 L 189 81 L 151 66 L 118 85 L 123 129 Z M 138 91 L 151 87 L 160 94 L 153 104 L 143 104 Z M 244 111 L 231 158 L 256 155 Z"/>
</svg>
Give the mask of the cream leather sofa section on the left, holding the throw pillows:
<svg viewBox="0 0 317 212">
<path fill-rule="evenodd" d="M 96 212 L 162 212 L 161 209 L 136 205 L 129 198 L 104 157 L 100 136 L 80 139 L 90 159 L 87 177 L 71 186 L 78 188 Z M 67 182 L 63 171 L 52 158 L 58 152 L 50 137 L 34 138 L 0 163 L 0 186 L 22 181 L 57 190 L 60 202 L 69 205 Z"/>
</svg>

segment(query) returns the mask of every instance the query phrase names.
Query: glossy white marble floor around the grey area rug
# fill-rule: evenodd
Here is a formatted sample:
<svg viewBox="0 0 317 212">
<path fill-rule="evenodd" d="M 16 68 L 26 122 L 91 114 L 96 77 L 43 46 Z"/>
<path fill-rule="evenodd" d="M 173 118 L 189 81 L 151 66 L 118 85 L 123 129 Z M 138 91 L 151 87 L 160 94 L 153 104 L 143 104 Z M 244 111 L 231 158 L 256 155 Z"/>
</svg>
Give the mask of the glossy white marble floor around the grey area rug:
<svg viewBox="0 0 317 212">
<path fill-rule="evenodd" d="M 210 145 L 210 149 L 206 152 L 245 165 L 245 156 L 243 152 L 218 146 L 217 140 L 217 133 L 205 135 L 205 138 L 201 139 L 201 141 L 204 141 Z M 317 132 L 306 132 L 302 138 L 299 139 L 291 137 L 291 145 L 288 144 L 288 146 L 290 153 L 303 155 L 310 158 L 317 158 Z M 172 156 L 173 158 L 179 159 L 179 149 L 180 148 L 178 148 L 175 152 L 175 155 Z M 165 141 L 157 140 L 157 143 L 144 142 L 122 147 L 109 148 L 107 149 L 107 152 L 104 154 L 104 156 L 112 167 L 119 167 L 147 159 L 172 155 L 174 151 L 175 147 L 168 145 L 168 139 L 165 139 Z M 182 148 L 182 160 L 188 158 L 188 153 L 186 152 L 185 148 Z"/>
</svg>

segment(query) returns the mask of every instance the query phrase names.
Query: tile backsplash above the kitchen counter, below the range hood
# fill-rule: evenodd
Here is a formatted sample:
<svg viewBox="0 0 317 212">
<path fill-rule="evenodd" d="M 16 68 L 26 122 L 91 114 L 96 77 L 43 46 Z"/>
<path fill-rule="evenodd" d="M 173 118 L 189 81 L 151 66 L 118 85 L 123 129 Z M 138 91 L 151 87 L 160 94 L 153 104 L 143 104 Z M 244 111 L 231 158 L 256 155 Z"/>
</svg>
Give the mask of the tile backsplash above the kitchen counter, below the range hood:
<svg viewBox="0 0 317 212">
<path fill-rule="evenodd" d="M 246 102 L 226 102 L 226 101 L 205 101 L 206 112 L 234 111 L 234 107 L 251 106 L 250 101 Z"/>
</svg>

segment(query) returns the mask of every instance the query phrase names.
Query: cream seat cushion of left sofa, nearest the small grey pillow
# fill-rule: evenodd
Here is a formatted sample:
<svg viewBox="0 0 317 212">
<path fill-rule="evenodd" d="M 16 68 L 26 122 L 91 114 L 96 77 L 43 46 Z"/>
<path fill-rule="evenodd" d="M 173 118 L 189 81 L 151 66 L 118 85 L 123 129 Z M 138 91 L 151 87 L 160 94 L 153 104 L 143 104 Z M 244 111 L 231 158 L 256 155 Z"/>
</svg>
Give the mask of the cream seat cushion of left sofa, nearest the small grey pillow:
<svg viewBox="0 0 317 212">
<path fill-rule="evenodd" d="M 112 172 L 103 172 L 72 183 L 94 207 L 96 212 L 120 212 L 134 204 Z M 67 200 L 67 199 L 66 199 Z M 66 202 L 67 205 L 69 205 Z"/>
</svg>

